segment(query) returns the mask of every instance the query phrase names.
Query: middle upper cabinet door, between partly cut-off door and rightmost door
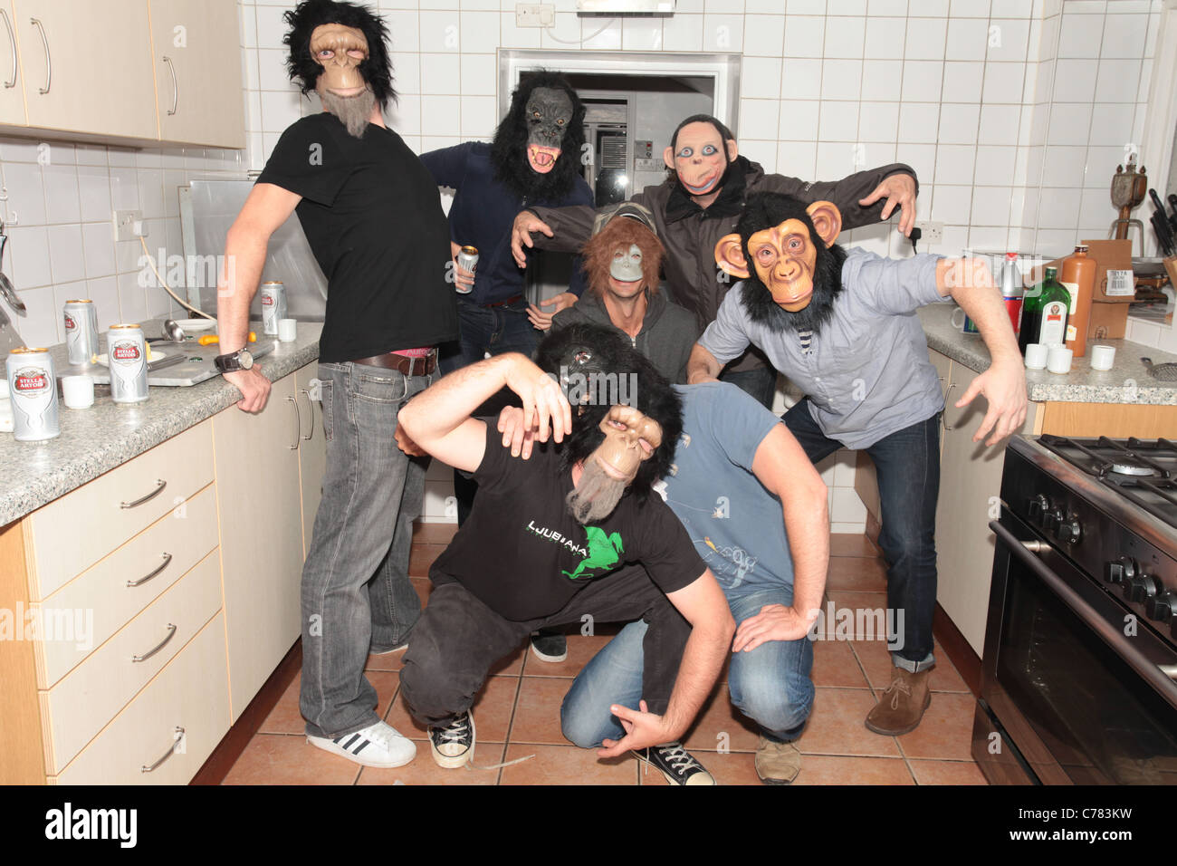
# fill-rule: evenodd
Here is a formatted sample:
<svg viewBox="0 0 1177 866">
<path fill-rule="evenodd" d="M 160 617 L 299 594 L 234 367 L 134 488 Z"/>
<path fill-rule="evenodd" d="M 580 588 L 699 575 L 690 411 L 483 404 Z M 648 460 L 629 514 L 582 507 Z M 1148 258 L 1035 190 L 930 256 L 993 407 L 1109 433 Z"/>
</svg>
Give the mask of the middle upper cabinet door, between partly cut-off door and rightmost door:
<svg viewBox="0 0 1177 866">
<path fill-rule="evenodd" d="M 29 126 L 159 138 L 147 0 L 12 4 Z"/>
</svg>

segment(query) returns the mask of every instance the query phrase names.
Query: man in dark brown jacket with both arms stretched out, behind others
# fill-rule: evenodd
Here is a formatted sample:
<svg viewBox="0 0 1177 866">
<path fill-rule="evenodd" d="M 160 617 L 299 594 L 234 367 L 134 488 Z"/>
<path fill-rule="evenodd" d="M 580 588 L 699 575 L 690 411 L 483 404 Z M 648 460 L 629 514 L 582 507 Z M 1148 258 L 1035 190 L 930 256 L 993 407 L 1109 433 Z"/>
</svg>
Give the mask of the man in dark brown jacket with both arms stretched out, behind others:
<svg viewBox="0 0 1177 866">
<path fill-rule="evenodd" d="M 906 165 L 886 165 L 832 183 L 765 174 L 757 163 L 739 156 L 731 130 L 706 114 L 678 125 L 663 159 L 673 177 L 647 186 L 631 200 L 653 212 L 654 229 L 666 247 L 663 269 L 670 297 L 694 313 L 700 329 L 714 320 L 731 287 L 727 275 L 716 267 L 716 243 L 734 231 L 744 201 L 753 192 L 780 192 L 806 203 L 833 201 L 846 231 L 887 219 L 896 206 L 902 209 L 899 230 L 904 234 L 916 224 L 918 185 L 915 171 Z M 527 266 L 524 246 L 579 251 L 592 234 L 596 216 L 587 206 L 520 212 L 511 238 L 516 263 Z M 550 318 L 532 308 L 537 326 L 546 328 Z M 750 349 L 732 361 L 720 378 L 772 408 L 777 376 L 759 350 Z"/>
</svg>

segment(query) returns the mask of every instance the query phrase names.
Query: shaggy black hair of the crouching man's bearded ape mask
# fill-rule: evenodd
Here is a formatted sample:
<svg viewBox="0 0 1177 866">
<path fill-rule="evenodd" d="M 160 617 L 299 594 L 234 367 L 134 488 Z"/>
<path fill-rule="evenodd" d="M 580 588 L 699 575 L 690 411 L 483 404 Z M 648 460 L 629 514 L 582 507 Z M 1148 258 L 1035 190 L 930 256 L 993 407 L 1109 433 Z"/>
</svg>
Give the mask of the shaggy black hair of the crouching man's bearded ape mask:
<svg viewBox="0 0 1177 866">
<path fill-rule="evenodd" d="M 670 382 L 617 331 L 601 325 L 570 325 L 545 337 L 536 351 L 536 363 L 541 370 L 557 377 L 561 372 L 568 379 L 577 373 L 586 378 L 604 375 L 614 382 L 626 377 L 627 382 L 636 383 L 632 388 L 619 388 L 618 391 L 625 390 L 630 405 L 661 425 L 661 444 L 650 460 L 641 463 L 637 477 L 630 484 L 630 490 L 639 500 L 645 500 L 652 484 L 670 471 L 674 445 L 683 432 L 683 401 Z M 630 379 L 630 376 L 634 378 Z M 593 389 L 593 392 L 607 394 L 609 390 Z M 614 399 L 613 403 L 616 402 Z M 572 435 L 564 438 L 563 445 L 565 469 L 588 460 L 600 445 L 605 434 L 599 425 L 610 405 L 609 402 L 573 405 Z"/>
</svg>

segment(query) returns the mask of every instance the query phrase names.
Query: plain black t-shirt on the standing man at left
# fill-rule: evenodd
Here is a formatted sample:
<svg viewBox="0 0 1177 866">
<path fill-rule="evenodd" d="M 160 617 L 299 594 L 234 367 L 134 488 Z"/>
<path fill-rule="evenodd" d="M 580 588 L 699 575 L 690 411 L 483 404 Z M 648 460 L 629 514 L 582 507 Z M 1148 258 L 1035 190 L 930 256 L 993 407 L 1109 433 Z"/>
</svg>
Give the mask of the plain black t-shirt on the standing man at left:
<svg viewBox="0 0 1177 866">
<path fill-rule="evenodd" d="M 433 177 L 400 135 L 368 124 L 355 138 L 328 112 L 305 117 L 258 183 L 302 197 L 295 212 L 327 278 L 320 361 L 457 338 L 450 226 Z"/>
</svg>

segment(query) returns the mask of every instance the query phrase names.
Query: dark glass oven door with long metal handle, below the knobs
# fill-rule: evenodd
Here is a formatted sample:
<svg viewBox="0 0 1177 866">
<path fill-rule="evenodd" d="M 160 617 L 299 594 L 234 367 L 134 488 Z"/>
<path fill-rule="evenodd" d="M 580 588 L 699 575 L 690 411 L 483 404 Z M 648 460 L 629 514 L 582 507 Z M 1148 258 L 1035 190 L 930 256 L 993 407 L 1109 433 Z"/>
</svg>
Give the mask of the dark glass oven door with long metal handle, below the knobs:
<svg viewBox="0 0 1177 866">
<path fill-rule="evenodd" d="M 1177 785 L 1177 652 L 1005 508 L 990 527 L 978 725 L 1002 735 L 975 738 L 986 775 L 1011 780 L 1012 746 L 1030 781 Z"/>
</svg>

